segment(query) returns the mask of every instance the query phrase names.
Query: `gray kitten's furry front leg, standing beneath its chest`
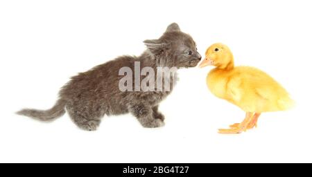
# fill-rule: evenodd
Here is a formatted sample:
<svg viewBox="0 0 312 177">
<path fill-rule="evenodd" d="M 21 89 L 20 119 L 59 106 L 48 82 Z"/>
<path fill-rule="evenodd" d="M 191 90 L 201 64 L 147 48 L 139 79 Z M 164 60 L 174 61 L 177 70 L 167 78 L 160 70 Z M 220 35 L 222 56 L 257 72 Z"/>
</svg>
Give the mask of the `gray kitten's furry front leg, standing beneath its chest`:
<svg viewBox="0 0 312 177">
<path fill-rule="evenodd" d="M 145 104 L 133 104 L 130 105 L 128 109 L 130 113 L 135 115 L 143 127 L 157 128 L 164 126 L 164 121 L 153 117 L 153 109 L 151 106 Z"/>
</svg>

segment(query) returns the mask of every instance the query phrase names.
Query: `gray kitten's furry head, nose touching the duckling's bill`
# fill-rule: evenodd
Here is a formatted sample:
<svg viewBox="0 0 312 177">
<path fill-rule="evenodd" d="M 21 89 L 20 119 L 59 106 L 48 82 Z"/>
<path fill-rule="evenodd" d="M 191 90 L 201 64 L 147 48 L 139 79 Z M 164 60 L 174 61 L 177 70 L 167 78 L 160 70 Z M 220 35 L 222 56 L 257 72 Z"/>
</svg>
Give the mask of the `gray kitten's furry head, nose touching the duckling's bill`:
<svg viewBox="0 0 312 177">
<path fill-rule="evenodd" d="M 157 59 L 157 66 L 189 68 L 197 66 L 202 58 L 195 41 L 182 32 L 177 24 L 169 25 L 159 39 L 146 40 L 144 44 Z"/>
</svg>

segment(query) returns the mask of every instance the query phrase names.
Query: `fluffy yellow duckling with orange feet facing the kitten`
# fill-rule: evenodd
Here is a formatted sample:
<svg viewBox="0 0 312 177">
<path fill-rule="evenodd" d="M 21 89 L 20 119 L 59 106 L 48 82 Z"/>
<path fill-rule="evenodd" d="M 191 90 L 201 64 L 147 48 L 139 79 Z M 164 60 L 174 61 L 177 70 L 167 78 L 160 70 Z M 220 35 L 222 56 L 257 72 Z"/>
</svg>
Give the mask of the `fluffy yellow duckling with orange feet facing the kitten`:
<svg viewBox="0 0 312 177">
<path fill-rule="evenodd" d="M 213 44 L 207 49 L 200 68 L 205 66 L 216 66 L 207 75 L 211 93 L 246 112 L 243 122 L 232 124 L 230 129 L 219 129 L 219 133 L 252 129 L 257 127 L 261 113 L 283 111 L 293 105 L 287 91 L 270 75 L 253 67 L 234 67 L 232 52 L 224 44 Z"/>
</svg>

